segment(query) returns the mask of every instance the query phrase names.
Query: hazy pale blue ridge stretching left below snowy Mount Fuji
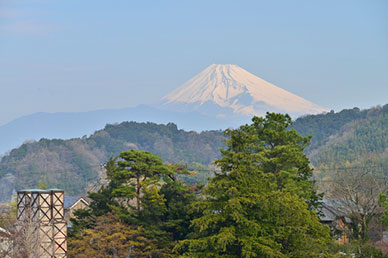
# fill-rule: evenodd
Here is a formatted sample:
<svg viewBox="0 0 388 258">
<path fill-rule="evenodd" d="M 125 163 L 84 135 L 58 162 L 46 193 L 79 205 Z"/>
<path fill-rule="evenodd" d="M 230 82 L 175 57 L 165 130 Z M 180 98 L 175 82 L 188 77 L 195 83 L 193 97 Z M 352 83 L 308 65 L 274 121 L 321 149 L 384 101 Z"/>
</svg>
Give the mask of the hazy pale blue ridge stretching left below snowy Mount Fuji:
<svg viewBox="0 0 388 258">
<path fill-rule="evenodd" d="M 150 106 L 137 106 L 124 109 L 96 110 L 79 113 L 35 113 L 23 116 L 0 126 L 0 155 L 20 146 L 24 142 L 46 139 L 70 139 L 91 135 L 106 124 L 123 121 L 174 122 L 180 129 L 200 132 L 210 129 L 225 129 L 249 122 L 249 117 L 213 117 L 199 112 L 174 112 Z"/>
</svg>

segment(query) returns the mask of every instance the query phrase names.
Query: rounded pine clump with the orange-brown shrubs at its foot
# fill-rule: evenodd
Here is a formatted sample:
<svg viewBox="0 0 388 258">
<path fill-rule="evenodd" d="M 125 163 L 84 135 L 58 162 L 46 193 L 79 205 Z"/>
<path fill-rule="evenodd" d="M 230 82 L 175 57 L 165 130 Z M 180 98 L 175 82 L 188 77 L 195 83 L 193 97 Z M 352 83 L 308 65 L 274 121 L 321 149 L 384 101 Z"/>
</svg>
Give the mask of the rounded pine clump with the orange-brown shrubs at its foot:
<svg viewBox="0 0 388 258">
<path fill-rule="evenodd" d="M 109 183 L 89 194 L 89 210 L 76 212 L 70 248 L 84 254 L 100 248 L 122 257 L 130 249 L 129 257 L 170 257 L 176 241 L 189 234 L 195 214 L 189 210 L 194 190 L 177 180 L 182 173 L 183 166 L 164 164 L 148 151 L 128 150 L 111 158 L 106 164 Z M 123 244 L 112 248 L 107 239 Z"/>
</svg>

